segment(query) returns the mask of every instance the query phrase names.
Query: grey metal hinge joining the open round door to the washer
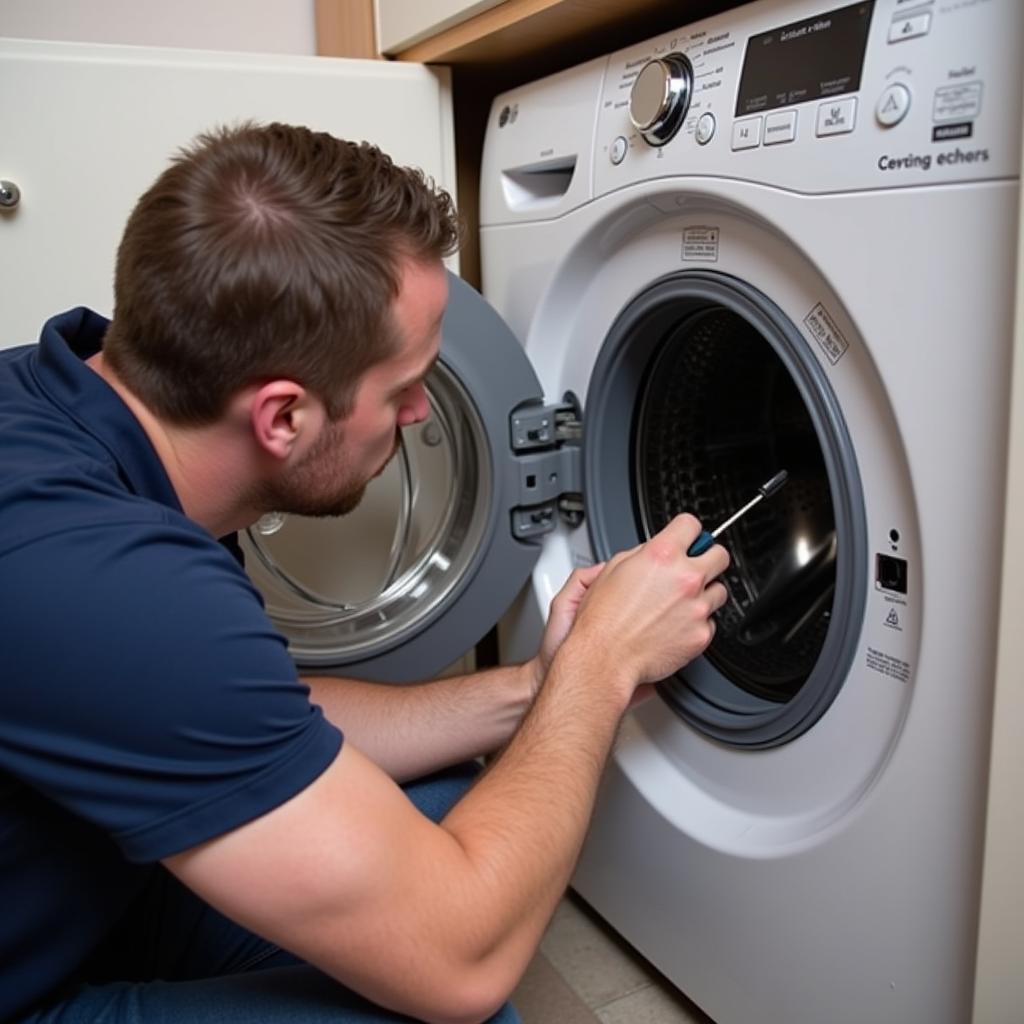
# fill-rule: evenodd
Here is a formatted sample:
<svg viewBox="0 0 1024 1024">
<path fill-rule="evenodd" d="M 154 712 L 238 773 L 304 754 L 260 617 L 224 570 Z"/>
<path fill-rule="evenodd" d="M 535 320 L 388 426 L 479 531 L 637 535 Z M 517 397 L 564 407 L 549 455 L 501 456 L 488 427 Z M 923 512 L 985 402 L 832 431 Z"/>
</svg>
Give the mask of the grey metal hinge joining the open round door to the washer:
<svg viewBox="0 0 1024 1024">
<path fill-rule="evenodd" d="M 583 418 L 571 392 L 558 406 L 518 409 L 509 418 L 518 469 L 518 500 L 512 508 L 516 538 L 549 534 L 559 518 L 583 522 Z"/>
</svg>

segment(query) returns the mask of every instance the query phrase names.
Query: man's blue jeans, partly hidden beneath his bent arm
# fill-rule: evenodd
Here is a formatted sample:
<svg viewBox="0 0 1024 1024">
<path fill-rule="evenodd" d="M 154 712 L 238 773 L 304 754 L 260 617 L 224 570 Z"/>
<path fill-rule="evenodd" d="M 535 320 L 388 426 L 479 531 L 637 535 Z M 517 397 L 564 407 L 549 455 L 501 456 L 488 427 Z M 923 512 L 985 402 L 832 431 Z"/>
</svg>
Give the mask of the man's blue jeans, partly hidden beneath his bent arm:
<svg viewBox="0 0 1024 1024">
<path fill-rule="evenodd" d="M 406 786 L 438 821 L 476 765 Z M 240 928 L 160 867 L 144 897 L 97 950 L 88 982 L 19 1024 L 397 1024 L 382 1010 L 291 953 Z M 506 1005 L 492 1024 L 519 1024 Z"/>
</svg>

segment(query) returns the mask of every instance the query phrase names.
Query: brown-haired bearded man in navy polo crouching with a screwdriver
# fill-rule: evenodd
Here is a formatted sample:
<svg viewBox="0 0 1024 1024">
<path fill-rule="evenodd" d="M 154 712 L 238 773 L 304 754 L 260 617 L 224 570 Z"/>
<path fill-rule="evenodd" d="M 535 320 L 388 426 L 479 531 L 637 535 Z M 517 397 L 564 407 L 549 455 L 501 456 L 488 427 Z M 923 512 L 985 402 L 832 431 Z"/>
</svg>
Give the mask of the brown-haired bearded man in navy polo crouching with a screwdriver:
<svg viewBox="0 0 1024 1024">
<path fill-rule="evenodd" d="M 525 665 L 310 693 L 216 540 L 357 504 L 428 414 L 457 239 L 370 145 L 217 132 L 133 211 L 113 323 L 0 358 L 3 1019 L 515 1019 L 620 718 L 710 642 L 725 551 L 687 558 L 681 516 L 573 573 Z"/>
</svg>

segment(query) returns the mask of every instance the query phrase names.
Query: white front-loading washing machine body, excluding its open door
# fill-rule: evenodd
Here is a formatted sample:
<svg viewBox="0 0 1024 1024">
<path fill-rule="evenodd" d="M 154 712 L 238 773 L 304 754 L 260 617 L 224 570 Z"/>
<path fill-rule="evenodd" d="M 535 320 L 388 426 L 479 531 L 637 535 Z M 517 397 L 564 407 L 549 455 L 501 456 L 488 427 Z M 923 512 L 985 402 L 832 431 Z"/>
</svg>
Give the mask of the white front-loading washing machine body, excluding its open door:
<svg viewBox="0 0 1024 1024">
<path fill-rule="evenodd" d="M 728 435 L 778 364 L 820 447 L 835 528 L 813 665 L 773 694 L 733 685 L 731 655 L 712 657 L 633 712 L 573 882 L 722 1024 L 970 1018 L 1022 39 L 1016 0 L 765 0 L 513 90 L 492 113 L 484 296 L 548 400 L 583 407 L 585 521 L 549 536 L 502 625 L 504 656 L 531 652 L 573 565 L 658 524 L 647 506 L 678 467 L 644 465 L 655 414 L 679 414 L 657 456 L 671 461 L 684 429 Z M 673 54 L 692 68 L 689 109 L 651 144 L 631 91 L 642 121 L 634 85 L 656 73 L 671 106 Z M 732 328 L 700 352 L 740 324 L 771 353 L 753 383 L 736 359 L 705 373 L 691 358 L 711 314 Z M 760 394 L 746 429 L 771 422 L 778 394 Z M 756 449 L 764 479 L 787 468 L 770 465 L 781 442 L 743 445 L 707 465 L 728 475 Z M 700 481 L 680 486 L 693 510 L 714 507 Z M 801 559 L 800 528 L 792 539 L 803 569 L 816 556 Z M 735 544 L 740 571 L 757 538 Z M 791 625 L 783 647 L 806 624 Z"/>
</svg>

